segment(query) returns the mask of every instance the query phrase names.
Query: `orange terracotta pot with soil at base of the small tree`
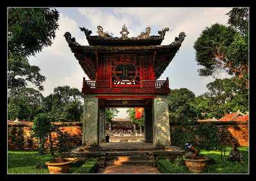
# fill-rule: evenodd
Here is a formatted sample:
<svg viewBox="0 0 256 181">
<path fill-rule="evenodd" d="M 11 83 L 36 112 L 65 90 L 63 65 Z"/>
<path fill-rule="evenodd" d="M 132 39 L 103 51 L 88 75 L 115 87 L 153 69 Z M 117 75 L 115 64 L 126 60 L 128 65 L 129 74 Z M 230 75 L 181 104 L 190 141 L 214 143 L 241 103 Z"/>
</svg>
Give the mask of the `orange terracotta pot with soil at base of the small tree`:
<svg viewBox="0 0 256 181">
<path fill-rule="evenodd" d="M 55 159 L 52 159 L 45 164 L 48 166 L 50 173 L 68 173 L 70 169 L 70 163 L 72 162 L 73 161 L 69 161 L 61 157 L 56 157 Z"/>
</svg>

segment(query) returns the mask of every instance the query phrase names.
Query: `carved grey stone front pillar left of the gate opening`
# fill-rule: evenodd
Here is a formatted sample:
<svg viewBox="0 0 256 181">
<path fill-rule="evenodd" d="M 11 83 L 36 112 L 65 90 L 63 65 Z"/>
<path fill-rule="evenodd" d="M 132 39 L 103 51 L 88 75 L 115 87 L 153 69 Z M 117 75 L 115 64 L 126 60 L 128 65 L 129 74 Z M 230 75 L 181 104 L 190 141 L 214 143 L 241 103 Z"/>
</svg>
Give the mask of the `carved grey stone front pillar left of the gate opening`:
<svg viewBox="0 0 256 181">
<path fill-rule="evenodd" d="M 98 98 L 84 96 L 83 143 L 86 146 L 99 145 Z"/>
</svg>

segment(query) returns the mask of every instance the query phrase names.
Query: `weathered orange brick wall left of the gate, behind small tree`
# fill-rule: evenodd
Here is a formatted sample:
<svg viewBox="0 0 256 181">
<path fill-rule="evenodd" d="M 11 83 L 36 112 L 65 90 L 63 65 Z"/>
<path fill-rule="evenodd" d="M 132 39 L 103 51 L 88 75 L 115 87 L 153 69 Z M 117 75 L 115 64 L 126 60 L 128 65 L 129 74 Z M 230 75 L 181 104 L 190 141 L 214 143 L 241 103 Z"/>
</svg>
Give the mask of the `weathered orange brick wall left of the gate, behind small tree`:
<svg viewBox="0 0 256 181">
<path fill-rule="evenodd" d="M 82 122 L 54 122 L 62 133 L 67 133 L 67 145 L 78 147 L 82 143 Z M 38 145 L 33 138 L 33 122 L 8 122 L 8 150 L 36 150 Z M 60 134 L 52 133 L 54 149 L 57 148 Z M 49 144 L 49 140 L 47 140 Z"/>
</svg>

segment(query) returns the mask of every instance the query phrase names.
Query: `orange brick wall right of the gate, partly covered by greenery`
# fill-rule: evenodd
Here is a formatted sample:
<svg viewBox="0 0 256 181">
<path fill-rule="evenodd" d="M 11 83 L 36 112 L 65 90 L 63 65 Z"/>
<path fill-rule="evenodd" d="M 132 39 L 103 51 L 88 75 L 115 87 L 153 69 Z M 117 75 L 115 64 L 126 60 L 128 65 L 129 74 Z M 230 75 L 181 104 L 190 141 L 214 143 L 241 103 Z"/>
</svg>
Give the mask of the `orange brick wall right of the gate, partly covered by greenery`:
<svg viewBox="0 0 256 181">
<path fill-rule="evenodd" d="M 190 129 L 184 129 L 185 132 L 194 131 L 199 124 L 204 124 L 209 121 L 200 121 L 197 122 Z M 173 133 L 175 127 L 179 124 L 171 124 L 170 129 Z M 238 122 L 238 121 L 212 121 L 212 126 L 216 126 L 218 131 L 222 131 L 223 135 L 223 144 L 232 145 L 232 143 L 237 143 L 240 146 L 248 146 L 248 122 Z M 172 138 L 171 138 L 172 141 Z"/>
</svg>

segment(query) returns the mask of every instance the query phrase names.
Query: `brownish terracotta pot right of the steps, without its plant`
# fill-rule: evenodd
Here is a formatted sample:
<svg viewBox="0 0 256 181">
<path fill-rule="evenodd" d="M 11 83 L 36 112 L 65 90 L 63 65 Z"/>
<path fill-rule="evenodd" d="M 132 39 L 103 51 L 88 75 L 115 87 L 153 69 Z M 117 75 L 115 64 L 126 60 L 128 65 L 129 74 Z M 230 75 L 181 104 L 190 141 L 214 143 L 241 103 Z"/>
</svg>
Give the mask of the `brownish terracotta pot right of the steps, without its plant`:
<svg viewBox="0 0 256 181">
<path fill-rule="evenodd" d="M 184 157 L 184 161 L 188 169 L 194 173 L 202 173 L 204 171 L 205 166 L 210 159 L 205 157 L 204 159 L 187 159 Z"/>
</svg>

